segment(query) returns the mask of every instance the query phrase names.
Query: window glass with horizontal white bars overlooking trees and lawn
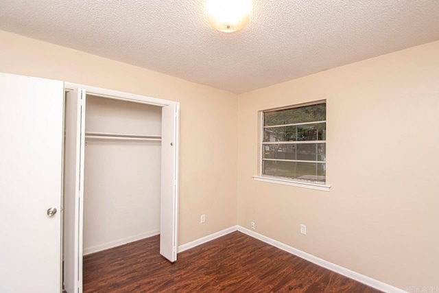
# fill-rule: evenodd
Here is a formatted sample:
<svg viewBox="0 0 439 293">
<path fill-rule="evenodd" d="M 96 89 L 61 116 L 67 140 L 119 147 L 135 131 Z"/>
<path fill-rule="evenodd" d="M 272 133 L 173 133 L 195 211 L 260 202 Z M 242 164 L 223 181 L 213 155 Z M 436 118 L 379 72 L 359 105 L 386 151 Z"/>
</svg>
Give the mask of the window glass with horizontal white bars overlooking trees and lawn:
<svg viewBox="0 0 439 293">
<path fill-rule="evenodd" d="M 326 101 L 261 113 L 261 176 L 326 183 Z"/>
</svg>

